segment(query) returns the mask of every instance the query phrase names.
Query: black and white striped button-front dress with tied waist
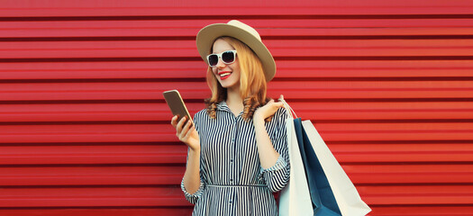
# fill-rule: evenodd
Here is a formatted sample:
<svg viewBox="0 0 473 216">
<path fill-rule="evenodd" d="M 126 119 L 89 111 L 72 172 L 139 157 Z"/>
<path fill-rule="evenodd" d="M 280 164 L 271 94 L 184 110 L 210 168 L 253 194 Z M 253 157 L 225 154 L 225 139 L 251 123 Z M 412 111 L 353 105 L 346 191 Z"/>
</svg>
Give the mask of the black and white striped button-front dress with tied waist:
<svg viewBox="0 0 473 216">
<path fill-rule="evenodd" d="M 287 111 L 277 110 L 266 130 L 279 153 L 268 169 L 259 163 L 253 121 L 244 121 L 223 101 L 217 103 L 216 119 L 206 110 L 194 116 L 201 145 L 201 184 L 196 193 L 181 188 L 186 200 L 194 203 L 192 215 L 277 215 L 272 192 L 281 190 L 289 180 L 287 153 Z"/>
</svg>

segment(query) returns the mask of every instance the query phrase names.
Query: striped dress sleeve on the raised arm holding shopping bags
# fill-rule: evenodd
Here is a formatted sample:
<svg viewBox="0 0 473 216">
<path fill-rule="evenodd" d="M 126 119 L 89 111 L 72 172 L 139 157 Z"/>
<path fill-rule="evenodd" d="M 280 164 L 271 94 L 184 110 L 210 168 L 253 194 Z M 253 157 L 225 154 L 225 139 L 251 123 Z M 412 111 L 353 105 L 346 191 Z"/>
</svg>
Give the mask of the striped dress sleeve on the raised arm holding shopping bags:
<svg viewBox="0 0 473 216">
<path fill-rule="evenodd" d="M 267 169 L 261 167 L 260 169 L 260 175 L 262 175 L 265 182 L 268 184 L 268 188 L 271 192 L 282 190 L 289 181 L 290 166 L 286 130 L 287 110 L 281 108 L 277 112 L 279 113 L 275 114 L 275 118 L 273 119 L 276 123 L 275 132 L 273 136 L 269 136 L 269 138 L 277 153 L 279 153 L 279 157 L 277 157 L 274 166 L 268 167 Z"/>
</svg>

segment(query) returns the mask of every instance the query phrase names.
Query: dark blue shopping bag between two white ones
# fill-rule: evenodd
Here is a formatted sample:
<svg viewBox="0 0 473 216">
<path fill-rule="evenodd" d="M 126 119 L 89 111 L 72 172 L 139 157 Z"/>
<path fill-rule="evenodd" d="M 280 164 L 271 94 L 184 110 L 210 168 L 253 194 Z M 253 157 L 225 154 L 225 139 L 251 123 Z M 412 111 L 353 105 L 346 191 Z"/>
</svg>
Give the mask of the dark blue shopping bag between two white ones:
<svg viewBox="0 0 473 216">
<path fill-rule="evenodd" d="M 333 195 L 332 188 L 305 133 L 301 118 L 294 120 L 294 127 L 304 163 L 305 175 L 309 184 L 314 215 L 341 216 L 341 211 Z"/>
</svg>

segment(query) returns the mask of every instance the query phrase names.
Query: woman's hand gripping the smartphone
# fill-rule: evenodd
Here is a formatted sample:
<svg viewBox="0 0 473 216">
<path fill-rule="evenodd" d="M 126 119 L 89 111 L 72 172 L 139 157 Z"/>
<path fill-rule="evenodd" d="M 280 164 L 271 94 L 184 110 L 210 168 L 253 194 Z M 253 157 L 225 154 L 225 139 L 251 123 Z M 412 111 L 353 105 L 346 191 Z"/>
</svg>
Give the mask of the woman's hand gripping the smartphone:
<svg viewBox="0 0 473 216">
<path fill-rule="evenodd" d="M 176 136 L 179 140 L 186 143 L 186 145 L 193 150 L 200 150 L 200 139 L 197 133 L 194 123 L 187 121 L 186 125 L 183 125 L 186 121 L 186 117 L 183 117 L 177 122 L 177 115 L 172 117 L 171 125 L 176 129 Z"/>
</svg>

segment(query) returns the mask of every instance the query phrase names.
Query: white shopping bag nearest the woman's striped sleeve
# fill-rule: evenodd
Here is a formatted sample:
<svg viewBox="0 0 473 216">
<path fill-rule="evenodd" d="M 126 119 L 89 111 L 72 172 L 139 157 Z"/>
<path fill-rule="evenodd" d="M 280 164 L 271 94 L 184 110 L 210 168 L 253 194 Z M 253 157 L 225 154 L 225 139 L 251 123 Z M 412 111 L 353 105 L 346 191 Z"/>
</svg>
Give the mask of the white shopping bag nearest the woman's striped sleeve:
<svg viewBox="0 0 473 216">
<path fill-rule="evenodd" d="M 289 152 L 289 182 L 279 194 L 280 216 L 313 216 L 314 210 L 305 177 L 304 164 L 297 143 L 296 130 L 294 129 L 294 116 L 287 107 L 286 121 L 287 148 Z"/>
</svg>

